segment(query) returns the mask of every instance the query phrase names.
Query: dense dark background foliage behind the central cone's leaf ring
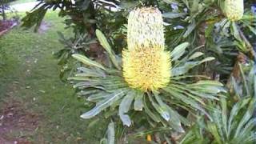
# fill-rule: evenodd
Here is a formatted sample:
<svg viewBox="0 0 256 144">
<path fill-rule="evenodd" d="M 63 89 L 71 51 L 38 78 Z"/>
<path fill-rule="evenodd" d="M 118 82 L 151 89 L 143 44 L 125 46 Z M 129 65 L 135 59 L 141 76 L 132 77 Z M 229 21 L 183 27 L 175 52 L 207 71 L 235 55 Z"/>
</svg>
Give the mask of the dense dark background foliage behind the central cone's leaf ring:
<svg viewBox="0 0 256 144">
<path fill-rule="evenodd" d="M 244 1 L 244 15 L 236 22 L 226 18 L 223 2 L 224 0 L 41 0 L 22 22 L 23 26 L 35 26 L 37 30 L 43 16 L 50 9 L 59 10 L 59 16 L 66 18 L 66 28 L 72 29 L 74 35 L 67 36 L 59 32 L 60 42 L 65 47 L 55 54 L 59 59 L 58 64 L 62 66 L 60 76 L 66 80 L 81 66 L 71 58 L 72 54 L 83 54 L 107 65 L 109 58 L 98 42 L 99 37 L 96 37 L 95 32 L 97 29 L 105 34 L 114 53 L 120 56 L 122 49 L 126 47 L 126 24 L 130 10 L 141 6 L 158 7 L 165 22 L 166 49 L 174 50 L 179 44 L 189 42 L 190 46 L 182 52 L 184 55 L 194 54 L 191 57 L 198 58 L 197 63 L 191 57 L 181 56 L 179 63 L 182 64 L 176 71 L 177 75 L 182 76 L 187 72 L 190 75 L 204 75 L 225 84 L 226 93 L 219 94 L 218 100 L 207 103 L 215 108 L 207 110 L 209 117 L 199 112 L 192 114 L 188 110 L 178 110 L 189 123 L 183 126 L 183 133 L 171 126 L 145 126 L 142 124 L 145 121 L 140 121 L 139 118 L 134 118 L 133 128 L 122 126 L 117 117 L 101 115 L 98 118 L 107 117 L 109 122 L 116 123 L 115 136 L 121 142 L 129 141 L 127 137 L 153 134 L 153 141 L 158 143 L 253 143 L 256 136 L 254 1 Z M 209 57 L 214 57 L 214 61 L 199 62 Z M 181 81 L 201 79 L 185 78 Z M 92 103 L 87 105 L 88 108 L 92 106 Z M 113 126 L 110 123 L 109 134 L 114 134 Z"/>
</svg>

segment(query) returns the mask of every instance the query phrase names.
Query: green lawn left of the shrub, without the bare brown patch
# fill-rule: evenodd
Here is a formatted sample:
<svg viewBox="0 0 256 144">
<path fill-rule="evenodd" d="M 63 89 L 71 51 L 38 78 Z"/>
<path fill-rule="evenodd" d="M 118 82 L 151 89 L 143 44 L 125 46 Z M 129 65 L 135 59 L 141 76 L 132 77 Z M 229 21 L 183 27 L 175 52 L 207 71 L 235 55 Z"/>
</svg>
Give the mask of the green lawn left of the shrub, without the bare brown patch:
<svg viewBox="0 0 256 144">
<path fill-rule="evenodd" d="M 6 92 L 13 91 L 26 110 L 39 114 L 38 129 L 26 134 L 33 143 L 98 143 L 106 123 L 88 129 L 92 120 L 79 118 L 86 108 L 73 88 L 59 80 L 58 61 L 52 55 L 62 48 L 56 32 L 72 31 L 64 29 L 57 13 L 46 14 L 46 22 L 50 29 L 45 33 L 15 27 L 0 38 L 0 108 L 1 101 L 8 101 Z M 18 88 L 12 90 L 14 82 Z"/>
</svg>

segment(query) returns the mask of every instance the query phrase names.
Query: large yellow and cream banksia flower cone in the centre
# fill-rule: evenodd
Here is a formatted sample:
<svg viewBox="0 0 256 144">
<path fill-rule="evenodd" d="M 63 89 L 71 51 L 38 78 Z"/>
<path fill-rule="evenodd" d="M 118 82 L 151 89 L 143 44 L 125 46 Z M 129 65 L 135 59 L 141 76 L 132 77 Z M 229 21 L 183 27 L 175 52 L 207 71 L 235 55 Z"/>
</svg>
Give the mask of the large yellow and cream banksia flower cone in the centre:
<svg viewBox="0 0 256 144">
<path fill-rule="evenodd" d="M 123 76 L 130 87 L 158 90 L 170 81 L 170 54 L 165 51 L 162 14 L 153 7 L 130 12 L 128 50 L 122 51 Z"/>
</svg>

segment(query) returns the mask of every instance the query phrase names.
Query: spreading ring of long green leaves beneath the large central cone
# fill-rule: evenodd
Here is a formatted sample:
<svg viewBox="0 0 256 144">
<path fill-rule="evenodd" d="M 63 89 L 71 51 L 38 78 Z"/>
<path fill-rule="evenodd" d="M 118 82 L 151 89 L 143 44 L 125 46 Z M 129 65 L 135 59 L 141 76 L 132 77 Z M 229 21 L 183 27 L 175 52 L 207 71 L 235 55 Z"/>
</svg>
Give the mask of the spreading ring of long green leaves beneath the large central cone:
<svg viewBox="0 0 256 144">
<path fill-rule="evenodd" d="M 97 35 L 108 52 L 110 61 L 114 64 L 114 62 L 117 62 L 116 59 L 121 59 L 111 52 L 112 50 L 108 49 L 110 44 L 106 42 L 106 38 L 99 30 L 97 30 Z M 182 66 L 182 60 L 178 61 L 178 59 L 184 54 L 186 46 L 188 46 L 188 43 L 182 43 L 171 53 L 175 54 L 173 61 L 175 64 L 179 63 L 179 66 Z M 69 80 L 74 82 L 74 88 L 79 90 L 78 95 L 86 98 L 87 102 L 95 103 L 91 110 L 81 115 L 81 118 L 93 118 L 105 111 L 107 114 L 105 114 L 105 118 L 111 119 L 118 114 L 124 126 L 140 125 L 153 128 L 167 126 L 175 131 L 184 132 L 182 125 L 189 126 L 190 122 L 179 113 L 179 110 L 187 110 L 191 114 L 200 111 L 210 118 L 206 109 L 212 110 L 214 107 L 207 106 L 207 103 L 203 102 L 203 98 L 207 98 L 209 101 L 210 99 L 218 99 L 217 94 L 225 91 L 219 82 L 201 80 L 193 83 L 182 80 L 190 76 L 183 75 L 179 77 L 174 75 L 166 88 L 144 93 L 127 85 L 122 77 L 122 71 L 118 70 L 119 65 L 102 66 L 102 64 L 80 54 L 73 54 L 72 56 L 84 65 L 79 67 L 78 74 L 75 74 Z M 184 58 L 193 59 L 193 57 L 186 56 Z M 184 58 L 183 62 L 186 61 Z M 212 58 L 205 58 L 196 63 L 210 60 Z M 186 69 L 188 70 L 191 67 L 193 66 Z M 132 118 L 130 118 L 130 114 Z M 145 123 L 142 124 L 141 121 L 145 121 Z"/>
</svg>

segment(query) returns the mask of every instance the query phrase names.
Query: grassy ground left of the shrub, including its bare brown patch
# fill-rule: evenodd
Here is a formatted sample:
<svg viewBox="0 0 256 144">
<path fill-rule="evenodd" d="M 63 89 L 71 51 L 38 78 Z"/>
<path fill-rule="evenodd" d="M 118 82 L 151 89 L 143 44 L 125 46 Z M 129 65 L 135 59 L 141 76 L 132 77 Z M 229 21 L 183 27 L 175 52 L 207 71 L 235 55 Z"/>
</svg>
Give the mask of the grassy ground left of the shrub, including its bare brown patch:
<svg viewBox="0 0 256 144">
<path fill-rule="evenodd" d="M 97 128 L 79 116 L 87 109 L 72 86 L 62 82 L 53 52 L 63 48 L 57 31 L 70 36 L 58 13 L 46 14 L 46 24 L 33 30 L 15 27 L 0 38 L 0 144 L 98 143 L 106 122 Z M 2 68 L 5 71 L 2 72 Z"/>
</svg>

